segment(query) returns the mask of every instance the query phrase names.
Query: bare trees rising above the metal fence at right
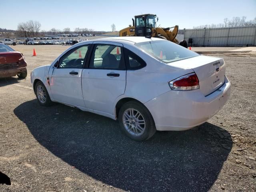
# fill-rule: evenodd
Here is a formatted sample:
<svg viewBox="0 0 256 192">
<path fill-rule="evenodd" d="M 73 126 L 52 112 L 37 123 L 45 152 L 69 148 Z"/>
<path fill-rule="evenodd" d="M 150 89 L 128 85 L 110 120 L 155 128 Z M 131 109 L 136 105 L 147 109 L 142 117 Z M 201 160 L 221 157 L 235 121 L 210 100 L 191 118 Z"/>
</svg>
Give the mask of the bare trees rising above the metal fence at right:
<svg viewBox="0 0 256 192">
<path fill-rule="evenodd" d="M 256 26 L 256 17 L 253 20 L 248 20 L 248 21 L 246 21 L 246 16 L 233 17 L 232 19 L 224 18 L 223 23 L 193 26 L 193 29 L 222 28 L 222 27 L 245 27 L 245 26 Z"/>
</svg>

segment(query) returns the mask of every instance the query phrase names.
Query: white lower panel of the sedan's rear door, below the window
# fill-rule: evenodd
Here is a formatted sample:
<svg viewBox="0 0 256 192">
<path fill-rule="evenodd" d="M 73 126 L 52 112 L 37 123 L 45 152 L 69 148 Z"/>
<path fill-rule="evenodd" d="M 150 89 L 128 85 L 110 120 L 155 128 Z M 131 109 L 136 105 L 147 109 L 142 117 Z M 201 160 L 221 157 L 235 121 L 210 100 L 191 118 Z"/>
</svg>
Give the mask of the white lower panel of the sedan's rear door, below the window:
<svg viewBox="0 0 256 192">
<path fill-rule="evenodd" d="M 119 74 L 118 77 L 107 74 Z M 82 74 L 82 91 L 86 107 L 113 114 L 115 99 L 124 94 L 126 71 L 84 69 Z"/>
</svg>

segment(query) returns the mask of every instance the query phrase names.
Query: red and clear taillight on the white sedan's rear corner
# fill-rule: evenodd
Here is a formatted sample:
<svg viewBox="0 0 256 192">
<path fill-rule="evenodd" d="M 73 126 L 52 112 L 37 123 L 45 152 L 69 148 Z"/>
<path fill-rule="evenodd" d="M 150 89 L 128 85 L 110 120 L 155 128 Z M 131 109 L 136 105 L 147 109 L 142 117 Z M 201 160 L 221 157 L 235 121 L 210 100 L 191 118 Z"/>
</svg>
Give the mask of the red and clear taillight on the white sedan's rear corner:
<svg viewBox="0 0 256 192">
<path fill-rule="evenodd" d="M 172 90 L 189 91 L 199 89 L 199 80 L 195 73 L 186 74 L 169 82 Z"/>
</svg>

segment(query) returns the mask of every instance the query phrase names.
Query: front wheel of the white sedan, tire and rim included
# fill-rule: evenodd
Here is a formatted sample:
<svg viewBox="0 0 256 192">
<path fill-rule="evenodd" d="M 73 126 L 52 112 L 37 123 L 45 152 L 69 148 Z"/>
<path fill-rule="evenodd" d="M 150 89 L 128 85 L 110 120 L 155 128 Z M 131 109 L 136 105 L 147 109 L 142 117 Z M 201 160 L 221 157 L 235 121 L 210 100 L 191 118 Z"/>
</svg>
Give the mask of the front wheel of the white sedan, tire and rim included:
<svg viewBox="0 0 256 192">
<path fill-rule="evenodd" d="M 52 104 L 48 91 L 41 81 L 36 82 L 35 94 L 40 105 L 50 106 Z"/>
</svg>

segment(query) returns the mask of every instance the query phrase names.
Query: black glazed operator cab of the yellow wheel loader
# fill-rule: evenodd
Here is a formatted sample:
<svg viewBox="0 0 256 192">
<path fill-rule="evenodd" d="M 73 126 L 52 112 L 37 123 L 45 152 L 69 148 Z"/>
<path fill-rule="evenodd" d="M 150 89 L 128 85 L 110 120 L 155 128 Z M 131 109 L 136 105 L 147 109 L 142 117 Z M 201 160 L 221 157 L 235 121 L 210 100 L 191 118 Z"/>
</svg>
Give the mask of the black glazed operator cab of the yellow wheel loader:
<svg viewBox="0 0 256 192">
<path fill-rule="evenodd" d="M 156 15 L 144 14 L 134 16 L 135 18 L 135 36 L 150 36 L 152 28 L 155 27 Z"/>
</svg>

